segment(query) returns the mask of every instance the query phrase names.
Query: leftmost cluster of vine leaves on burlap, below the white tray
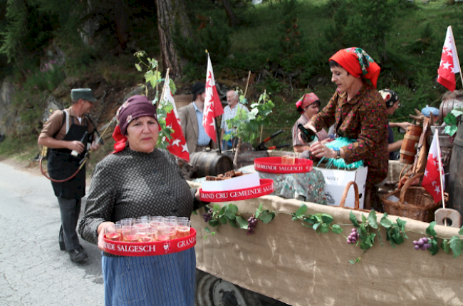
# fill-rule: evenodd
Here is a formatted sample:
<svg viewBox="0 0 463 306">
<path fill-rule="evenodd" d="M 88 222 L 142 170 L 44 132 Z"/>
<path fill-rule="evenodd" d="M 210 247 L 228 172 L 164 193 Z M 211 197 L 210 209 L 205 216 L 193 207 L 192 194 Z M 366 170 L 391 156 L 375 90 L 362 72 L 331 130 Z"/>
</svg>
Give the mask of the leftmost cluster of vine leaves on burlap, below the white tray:
<svg viewBox="0 0 463 306">
<path fill-rule="evenodd" d="M 207 206 L 207 208 L 209 208 Z M 255 218 L 261 220 L 263 223 L 269 223 L 271 220 L 274 220 L 276 212 L 271 210 L 264 210 L 262 208 L 262 204 L 259 205 L 259 208 L 256 209 L 256 213 L 254 213 Z M 238 206 L 234 204 L 227 204 L 222 206 L 222 208 L 215 204 L 212 208 L 207 210 L 207 213 L 203 214 L 204 218 L 209 219 L 207 220 L 209 226 L 214 228 L 211 230 L 209 226 L 206 226 L 204 230 L 206 230 L 206 235 L 204 239 L 207 238 L 207 235 L 215 235 L 217 228 L 219 225 L 229 223 L 234 228 L 241 228 L 243 230 L 248 229 L 248 221 L 241 216 L 241 213 L 238 211 Z"/>
</svg>

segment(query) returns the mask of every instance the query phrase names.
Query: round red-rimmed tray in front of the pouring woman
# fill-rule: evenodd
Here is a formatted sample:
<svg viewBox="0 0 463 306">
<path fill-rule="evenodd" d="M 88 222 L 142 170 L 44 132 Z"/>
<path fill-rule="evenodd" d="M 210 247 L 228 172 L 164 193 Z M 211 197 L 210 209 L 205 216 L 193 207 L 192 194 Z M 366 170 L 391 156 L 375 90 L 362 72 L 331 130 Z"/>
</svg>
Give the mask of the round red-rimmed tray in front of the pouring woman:
<svg viewBox="0 0 463 306">
<path fill-rule="evenodd" d="M 306 158 L 261 157 L 254 159 L 254 169 L 269 173 L 311 172 L 313 161 Z"/>
</svg>

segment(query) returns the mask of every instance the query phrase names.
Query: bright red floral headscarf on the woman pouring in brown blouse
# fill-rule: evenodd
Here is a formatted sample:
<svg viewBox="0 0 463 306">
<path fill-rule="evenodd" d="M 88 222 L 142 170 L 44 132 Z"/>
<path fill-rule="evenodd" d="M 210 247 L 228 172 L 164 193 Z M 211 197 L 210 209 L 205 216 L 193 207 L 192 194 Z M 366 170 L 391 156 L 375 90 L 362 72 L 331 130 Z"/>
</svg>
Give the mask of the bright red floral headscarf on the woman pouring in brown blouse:
<svg viewBox="0 0 463 306">
<path fill-rule="evenodd" d="M 363 49 L 352 47 L 339 50 L 331 56 L 330 61 L 335 61 L 356 78 L 368 78 L 376 88 L 381 68 Z"/>
</svg>

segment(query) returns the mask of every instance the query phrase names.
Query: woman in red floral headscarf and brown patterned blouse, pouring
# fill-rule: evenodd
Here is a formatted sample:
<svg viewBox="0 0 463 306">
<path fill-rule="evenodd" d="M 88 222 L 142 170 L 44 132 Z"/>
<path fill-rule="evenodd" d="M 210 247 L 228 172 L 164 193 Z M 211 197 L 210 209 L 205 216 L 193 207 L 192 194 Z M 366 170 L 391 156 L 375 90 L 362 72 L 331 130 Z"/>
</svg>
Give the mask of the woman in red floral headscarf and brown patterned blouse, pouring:
<svg viewBox="0 0 463 306">
<path fill-rule="evenodd" d="M 330 69 L 331 81 L 338 88 L 328 105 L 305 127 L 320 131 L 334 123 L 338 136 L 356 142 L 342 148 L 327 148 L 318 141 L 311 145 L 311 154 L 317 158 L 344 158 L 346 164 L 363 160 L 368 166 L 368 195 L 368 190 L 374 190 L 386 178 L 389 157 L 386 107 L 376 90 L 380 67 L 363 49 L 348 48 L 331 56 Z M 378 199 L 372 199 L 371 204 L 380 205 Z"/>
</svg>

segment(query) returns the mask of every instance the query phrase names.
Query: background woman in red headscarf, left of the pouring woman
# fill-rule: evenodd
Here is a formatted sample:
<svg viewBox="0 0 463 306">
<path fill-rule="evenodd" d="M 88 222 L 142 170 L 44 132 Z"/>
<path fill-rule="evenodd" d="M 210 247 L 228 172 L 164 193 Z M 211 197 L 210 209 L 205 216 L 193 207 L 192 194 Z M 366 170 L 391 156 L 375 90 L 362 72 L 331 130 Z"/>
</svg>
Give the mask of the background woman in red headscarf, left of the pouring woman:
<svg viewBox="0 0 463 306">
<path fill-rule="evenodd" d="M 311 118 L 318 113 L 318 108 L 320 107 L 320 100 L 315 93 L 306 93 L 296 102 L 296 109 L 301 113 L 301 117 L 298 118 L 296 123 L 294 123 L 291 132 L 293 133 L 293 150 L 296 153 L 302 153 L 303 151 L 308 150 L 309 146 L 307 143 L 304 143 L 301 139 L 298 138 L 298 124 L 305 125 Z M 323 141 L 323 139 L 328 138 L 328 133 L 326 133 L 323 128 L 317 133 L 318 141 Z"/>
</svg>

